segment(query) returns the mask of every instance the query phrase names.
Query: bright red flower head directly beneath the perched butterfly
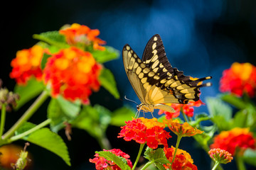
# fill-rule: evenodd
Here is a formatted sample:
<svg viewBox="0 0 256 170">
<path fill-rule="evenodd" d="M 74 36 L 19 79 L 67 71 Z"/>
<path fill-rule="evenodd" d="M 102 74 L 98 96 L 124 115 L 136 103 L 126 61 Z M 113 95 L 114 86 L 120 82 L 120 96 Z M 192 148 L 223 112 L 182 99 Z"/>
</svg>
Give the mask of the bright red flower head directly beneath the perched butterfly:
<svg viewBox="0 0 256 170">
<path fill-rule="evenodd" d="M 157 122 L 156 118 L 146 119 L 137 118 L 126 122 L 119 133 L 118 137 L 124 137 L 124 140 L 135 140 L 139 144 L 144 144 L 152 149 L 156 149 L 158 145 L 167 145 L 167 139 L 171 137 L 169 132 L 164 130 L 164 123 Z"/>
</svg>

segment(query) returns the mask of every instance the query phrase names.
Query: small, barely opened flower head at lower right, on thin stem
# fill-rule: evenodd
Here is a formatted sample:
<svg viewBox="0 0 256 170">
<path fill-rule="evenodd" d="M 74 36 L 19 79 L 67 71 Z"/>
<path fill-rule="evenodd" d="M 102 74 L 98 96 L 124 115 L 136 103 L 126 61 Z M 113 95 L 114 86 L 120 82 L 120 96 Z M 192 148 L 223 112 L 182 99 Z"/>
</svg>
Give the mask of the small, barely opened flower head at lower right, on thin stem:
<svg viewBox="0 0 256 170">
<path fill-rule="evenodd" d="M 232 154 L 230 154 L 230 152 L 220 148 L 210 149 L 208 154 L 215 162 L 220 162 L 220 164 L 227 164 L 233 160 Z"/>
</svg>

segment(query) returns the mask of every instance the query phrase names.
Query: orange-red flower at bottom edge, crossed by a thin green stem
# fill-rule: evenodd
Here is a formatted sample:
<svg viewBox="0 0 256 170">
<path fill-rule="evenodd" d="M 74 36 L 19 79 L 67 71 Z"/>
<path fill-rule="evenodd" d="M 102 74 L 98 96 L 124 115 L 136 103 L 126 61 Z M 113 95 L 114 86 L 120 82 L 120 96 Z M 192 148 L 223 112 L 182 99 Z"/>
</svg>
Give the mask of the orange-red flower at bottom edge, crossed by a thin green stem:
<svg viewBox="0 0 256 170">
<path fill-rule="evenodd" d="M 169 162 L 172 162 L 174 159 L 174 152 L 175 147 L 166 148 L 164 147 L 164 154 L 166 155 L 166 158 L 169 160 Z M 166 169 L 173 169 L 173 170 L 179 170 L 179 169 L 186 169 L 186 170 L 196 170 L 196 165 L 193 164 L 193 159 L 191 159 L 191 155 L 188 154 L 188 152 L 177 149 L 176 156 L 174 159 L 174 162 L 172 164 L 166 164 L 164 165 Z"/>
</svg>

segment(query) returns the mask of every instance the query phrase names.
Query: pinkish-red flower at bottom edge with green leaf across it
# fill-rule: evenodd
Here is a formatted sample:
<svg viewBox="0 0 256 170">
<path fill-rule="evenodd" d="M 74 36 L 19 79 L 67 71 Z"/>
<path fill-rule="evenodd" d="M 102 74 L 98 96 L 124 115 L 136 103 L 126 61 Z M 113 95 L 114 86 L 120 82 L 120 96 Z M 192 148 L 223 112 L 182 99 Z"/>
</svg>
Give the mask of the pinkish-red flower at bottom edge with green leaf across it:
<svg viewBox="0 0 256 170">
<path fill-rule="evenodd" d="M 126 159 L 128 166 L 130 166 L 132 168 L 132 162 L 129 159 L 129 154 L 122 152 L 120 149 L 111 149 L 111 150 L 103 149 L 103 150 L 112 152 L 113 154 L 117 155 L 118 157 L 120 157 L 120 156 L 123 157 L 124 159 Z M 95 158 L 89 159 L 89 161 L 92 163 L 95 163 L 95 168 L 97 170 L 103 170 L 103 169 L 121 170 L 119 168 L 119 166 L 117 166 L 117 164 L 115 164 L 112 161 L 107 161 L 107 159 L 105 159 L 104 157 L 100 157 L 99 154 L 95 154 Z"/>
</svg>

